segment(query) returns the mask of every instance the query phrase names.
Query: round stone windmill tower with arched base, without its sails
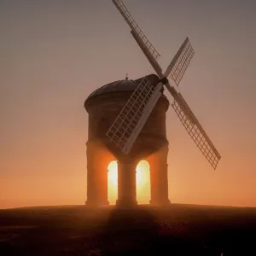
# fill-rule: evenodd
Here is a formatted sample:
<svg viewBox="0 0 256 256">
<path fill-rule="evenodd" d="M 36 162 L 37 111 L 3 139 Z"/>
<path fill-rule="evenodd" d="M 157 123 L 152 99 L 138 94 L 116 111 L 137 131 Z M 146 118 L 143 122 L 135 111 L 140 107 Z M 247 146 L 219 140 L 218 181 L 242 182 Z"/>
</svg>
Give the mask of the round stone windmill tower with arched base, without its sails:
<svg viewBox="0 0 256 256">
<path fill-rule="evenodd" d="M 89 113 L 87 146 L 87 201 L 86 205 L 96 207 L 108 204 L 108 164 L 118 160 L 119 206 L 137 204 L 136 166 L 140 160 L 147 160 L 150 166 L 151 204 L 166 205 L 168 200 L 166 111 L 169 102 L 162 94 L 154 111 L 150 114 L 143 130 L 137 137 L 131 154 L 120 153 L 109 142 L 106 133 L 120 110 L 137 89 L 143 79 L 120 80 L 95 90 L 84 102 Z M 156 75 L 148 80 L 156 83 Z"/>
</svg>

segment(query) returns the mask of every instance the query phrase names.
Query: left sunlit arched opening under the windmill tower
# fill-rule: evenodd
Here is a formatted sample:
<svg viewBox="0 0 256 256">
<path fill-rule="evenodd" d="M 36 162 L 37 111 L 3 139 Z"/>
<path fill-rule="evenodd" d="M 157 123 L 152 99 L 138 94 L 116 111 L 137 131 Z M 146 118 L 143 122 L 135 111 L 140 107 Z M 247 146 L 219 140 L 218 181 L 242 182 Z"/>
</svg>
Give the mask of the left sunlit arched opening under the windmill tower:
<svg viewBox="0 0 256 256">
<path fill-rule="evenodd" d="M 116 160 L 108 164 L 108 201 L 114 205 L 118 197 L 118 164 Z"/>
</svg>

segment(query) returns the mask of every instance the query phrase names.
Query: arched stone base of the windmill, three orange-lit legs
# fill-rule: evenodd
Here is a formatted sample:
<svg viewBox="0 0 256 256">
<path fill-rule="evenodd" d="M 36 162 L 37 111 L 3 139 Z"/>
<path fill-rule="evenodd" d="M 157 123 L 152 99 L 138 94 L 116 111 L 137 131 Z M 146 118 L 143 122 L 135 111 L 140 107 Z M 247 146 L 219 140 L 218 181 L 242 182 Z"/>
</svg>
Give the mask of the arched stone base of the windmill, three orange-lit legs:
<svg viewBox="0 0 256 256">
<path fill-rule="evenodd" d="M 116 160 L 101 140 L 87 142 L 87 201 L 86 205 L 98 207 L 108 205 L 108 165 Z M 153 154 L 138 160 L 125 158 L 118 160 L 118 206 L 137 205 L 136 168 L 141 160 L 150 166 L 150 204 L 168 205 L 167 177 L 168 145 Z"/>
</svg>

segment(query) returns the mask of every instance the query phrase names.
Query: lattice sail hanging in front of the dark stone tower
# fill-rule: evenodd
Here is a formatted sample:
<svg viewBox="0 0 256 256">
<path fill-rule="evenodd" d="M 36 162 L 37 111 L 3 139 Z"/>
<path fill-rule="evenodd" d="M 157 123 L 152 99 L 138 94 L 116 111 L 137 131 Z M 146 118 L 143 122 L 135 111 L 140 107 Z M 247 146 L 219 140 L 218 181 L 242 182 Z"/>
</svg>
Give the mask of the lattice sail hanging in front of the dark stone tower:
<svg viewBox="0 0 256 256">
<path fill-rule="evenodd" d="M 147 77 L 144 77 L 114 120 L 113 125 L 108 129 L 106 135 L 123 153 L 130 152 L 155 103 L 161 96 L 161 88 L 161 83 L 154 86 Z"/>
</svg>

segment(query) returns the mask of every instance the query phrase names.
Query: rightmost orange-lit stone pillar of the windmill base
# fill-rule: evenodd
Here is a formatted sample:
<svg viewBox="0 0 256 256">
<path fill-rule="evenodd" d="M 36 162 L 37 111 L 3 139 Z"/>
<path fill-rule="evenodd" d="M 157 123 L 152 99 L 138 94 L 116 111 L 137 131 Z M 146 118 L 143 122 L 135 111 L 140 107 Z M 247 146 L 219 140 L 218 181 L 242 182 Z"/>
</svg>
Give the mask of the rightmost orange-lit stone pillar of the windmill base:
<svg viewBox="0 0 256 256">
<path fill-rule="evenodd" d="M 151 200 L 154 206 L 169 205 L 168 199 L 168 146 L 160 148 L 148 157 L 150 165 Z"/>
</svg>

